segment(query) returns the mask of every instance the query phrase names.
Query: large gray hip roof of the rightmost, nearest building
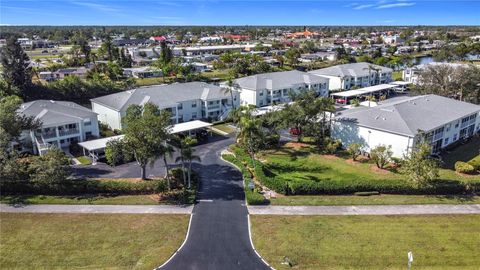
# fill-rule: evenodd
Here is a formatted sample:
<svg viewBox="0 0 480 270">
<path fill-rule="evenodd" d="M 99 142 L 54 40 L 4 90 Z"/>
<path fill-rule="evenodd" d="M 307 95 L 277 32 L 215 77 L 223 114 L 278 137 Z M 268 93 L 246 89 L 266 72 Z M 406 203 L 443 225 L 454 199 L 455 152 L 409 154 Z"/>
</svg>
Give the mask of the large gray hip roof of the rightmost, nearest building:
<svg viewBox="0 0 480 270">
<path fill-rule="evenodd" d="M 352 121 L 359 126 L 415 136 L 462 117 L 480 112 L 480 106 L 437 95 L 401 98 L 377 107 L 359 107 L 338 112 L 336 121 Z"/>
</svg>

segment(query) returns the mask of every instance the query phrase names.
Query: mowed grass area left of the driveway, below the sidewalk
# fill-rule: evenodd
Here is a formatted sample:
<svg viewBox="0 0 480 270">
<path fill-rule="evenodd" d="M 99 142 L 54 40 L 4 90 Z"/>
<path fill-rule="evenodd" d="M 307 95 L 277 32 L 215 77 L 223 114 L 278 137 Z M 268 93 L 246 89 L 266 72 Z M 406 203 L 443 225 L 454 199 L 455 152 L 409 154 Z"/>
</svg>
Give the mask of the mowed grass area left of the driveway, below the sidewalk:
<svg viewBox="0 0 480 270">
<path fill-rule="evenodd" d="M 153 269 L 185 239 L 187 215 L 1 213 L 3 269 Z"/>
</svg>

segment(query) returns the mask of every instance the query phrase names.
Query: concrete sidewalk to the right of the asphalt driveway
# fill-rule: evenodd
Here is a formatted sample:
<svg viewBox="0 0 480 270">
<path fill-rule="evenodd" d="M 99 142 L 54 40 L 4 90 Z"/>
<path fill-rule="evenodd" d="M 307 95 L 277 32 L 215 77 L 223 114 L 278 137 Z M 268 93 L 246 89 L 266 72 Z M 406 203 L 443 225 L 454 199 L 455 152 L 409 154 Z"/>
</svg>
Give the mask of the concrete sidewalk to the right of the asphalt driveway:
<svg viewBox="0 0 480 270">
<path fill-rule="evenodd" d="M 480 214 L 480 204 L 248 206 L 251 215 L 446 215 Z"/>
</svg>

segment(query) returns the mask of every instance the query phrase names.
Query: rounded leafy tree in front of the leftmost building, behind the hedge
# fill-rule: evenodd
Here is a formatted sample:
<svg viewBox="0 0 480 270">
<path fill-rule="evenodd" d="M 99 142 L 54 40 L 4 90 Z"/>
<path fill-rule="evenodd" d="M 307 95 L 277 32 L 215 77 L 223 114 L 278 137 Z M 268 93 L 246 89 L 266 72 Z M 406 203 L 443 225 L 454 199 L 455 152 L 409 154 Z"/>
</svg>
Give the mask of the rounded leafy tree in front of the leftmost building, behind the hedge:
<svg viewBox="0 0 480 270">
<path fill-rule="evenodd" d="M 53 147 L 30 164 L 30 180 L 40 186 L 56 188 L 69 177 L 69 163 L 65 153 Z"/>
</svg>

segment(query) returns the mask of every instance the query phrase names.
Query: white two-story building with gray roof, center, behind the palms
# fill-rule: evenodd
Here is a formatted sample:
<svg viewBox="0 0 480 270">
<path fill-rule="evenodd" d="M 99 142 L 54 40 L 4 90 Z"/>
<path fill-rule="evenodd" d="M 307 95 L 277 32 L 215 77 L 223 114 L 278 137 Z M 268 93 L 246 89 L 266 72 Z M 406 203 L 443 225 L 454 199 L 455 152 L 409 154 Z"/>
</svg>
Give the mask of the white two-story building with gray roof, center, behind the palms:
<svg viewBox="0 0 480 270">
<path fill-rule="evenodd" d="M 328 96 L 328 79 L 298 70 L 270 72 L 234 80 L 242 105 L 270 106 L 290 101 L 290 92 L 313 90 Z"/>
</svg>

